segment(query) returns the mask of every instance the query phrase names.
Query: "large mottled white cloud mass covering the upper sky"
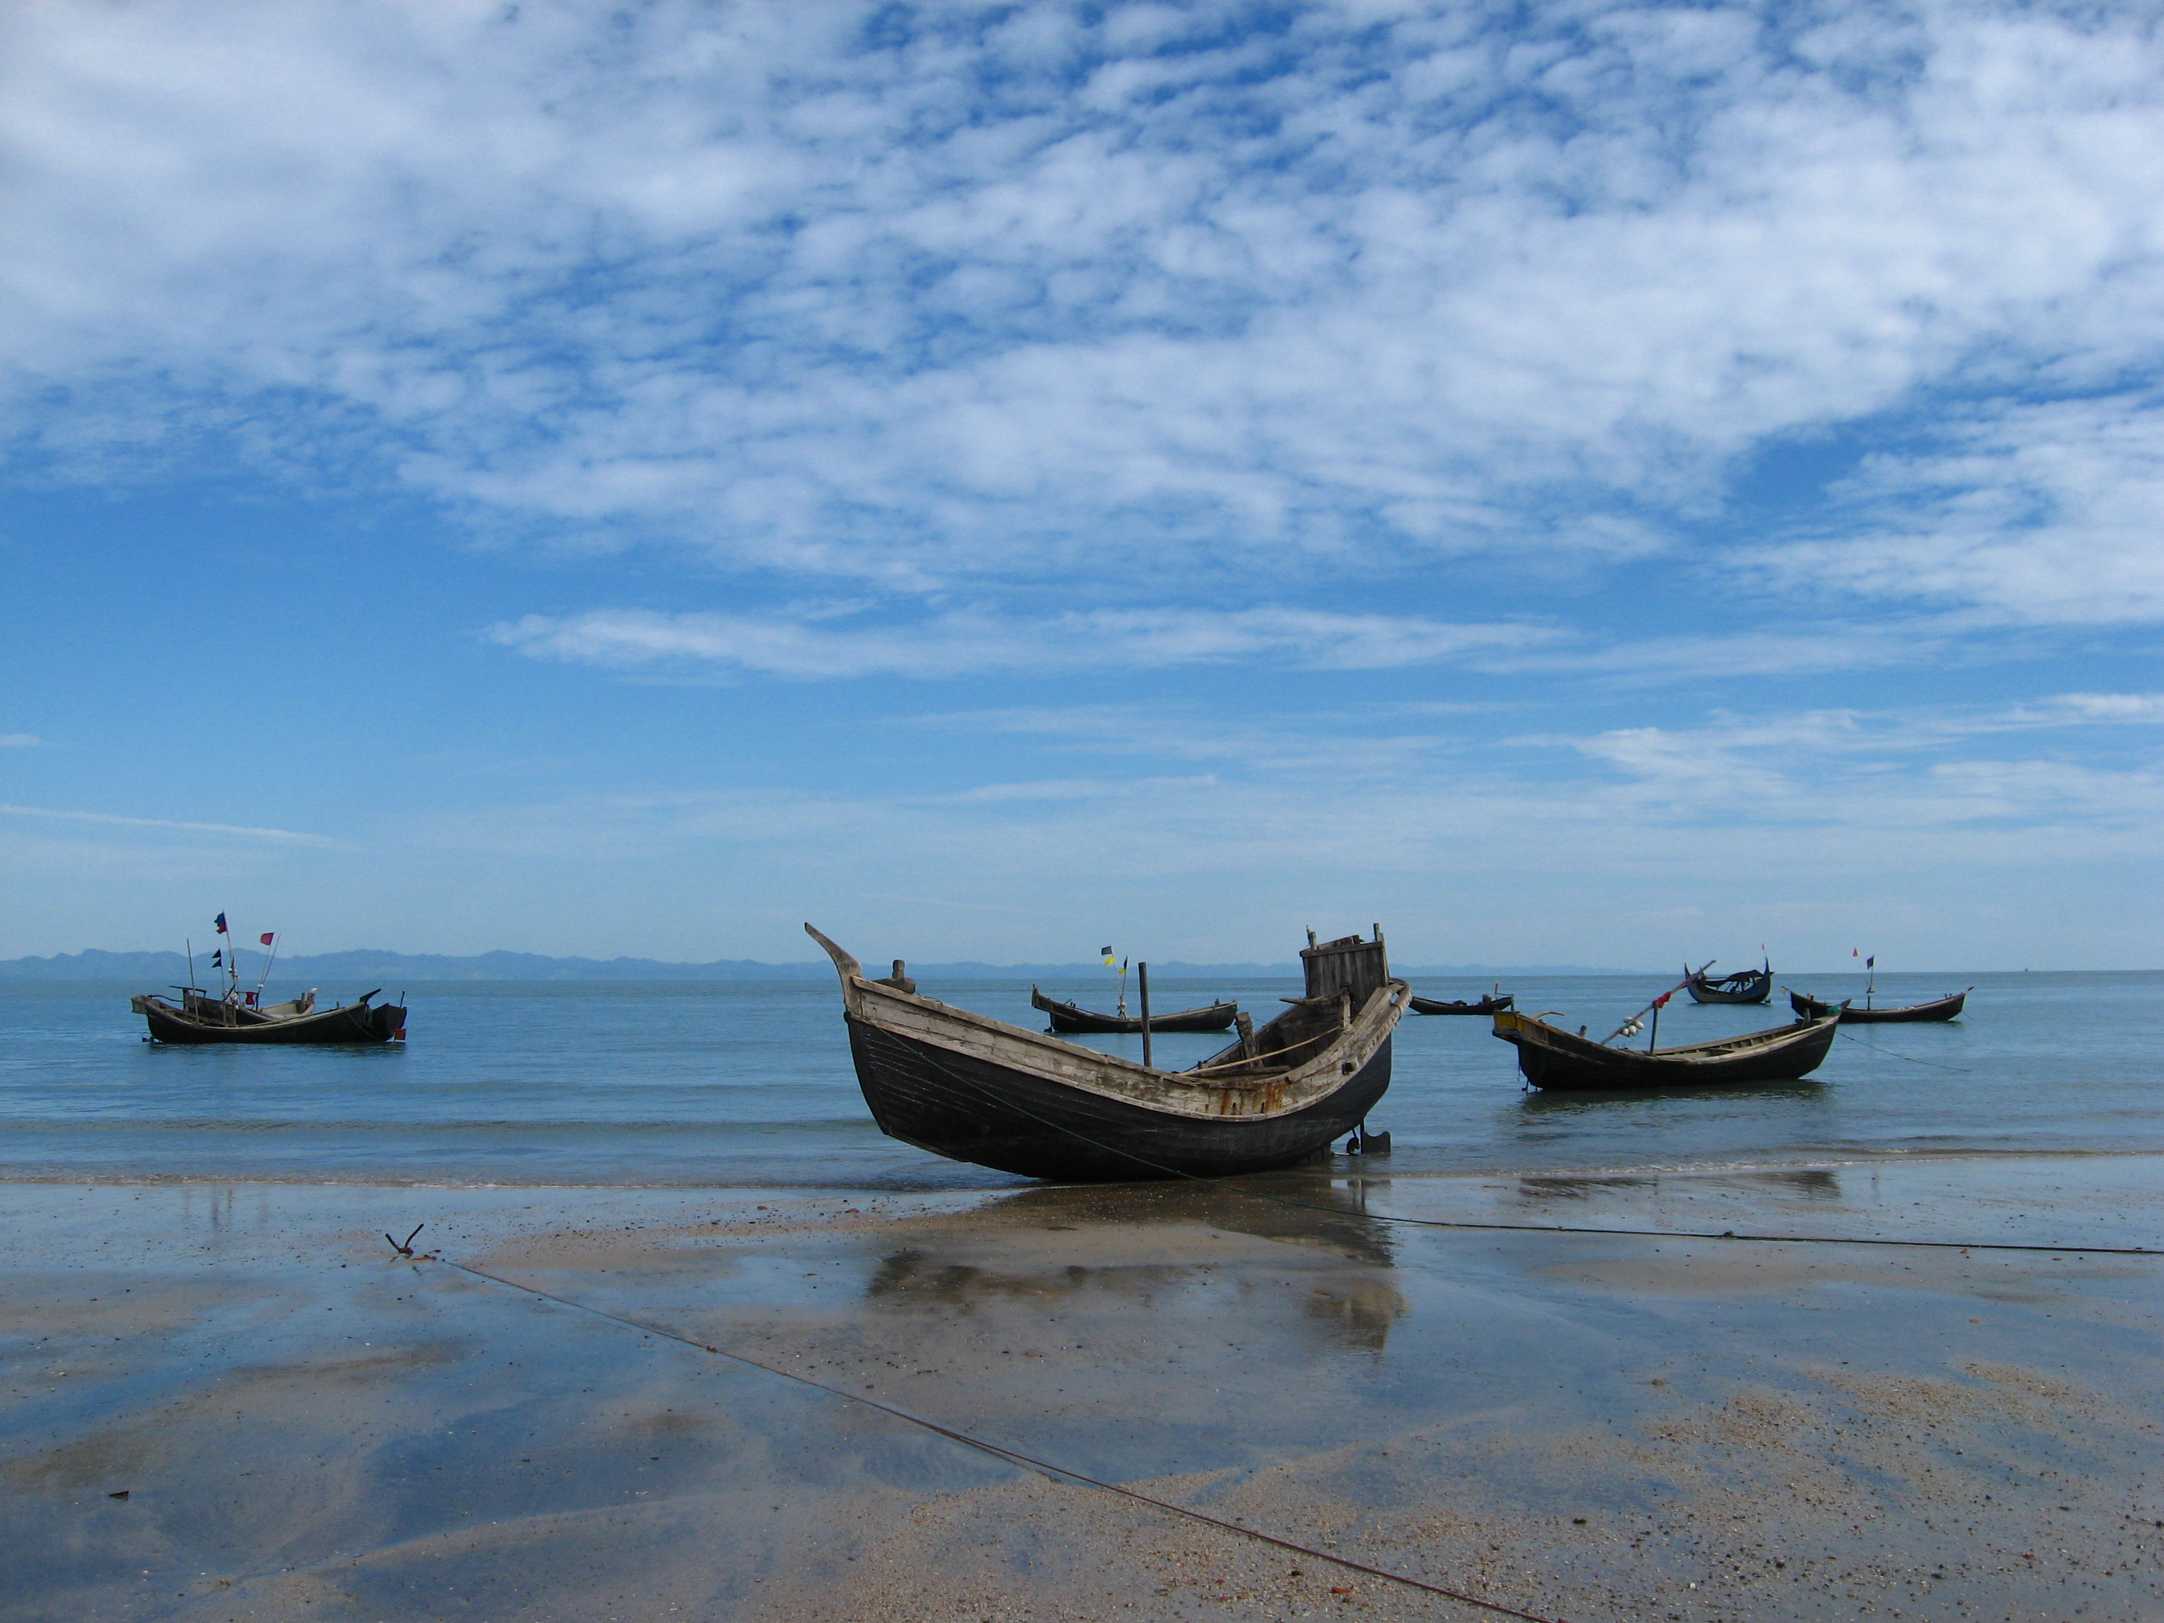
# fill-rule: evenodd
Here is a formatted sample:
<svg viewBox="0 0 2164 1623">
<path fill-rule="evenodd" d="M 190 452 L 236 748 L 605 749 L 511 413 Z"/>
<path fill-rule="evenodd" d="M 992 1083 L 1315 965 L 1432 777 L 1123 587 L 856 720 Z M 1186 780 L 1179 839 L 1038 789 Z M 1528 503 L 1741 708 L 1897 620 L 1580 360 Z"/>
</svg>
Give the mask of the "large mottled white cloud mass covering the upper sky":
<svg viewBox="0 0 2164 1623">
<path fill-rule="evenodd" d="M 1675 552 L 1768 437 L 1950 413 L 1783 578 L 2164 612 L 2090 398 L 2158 361 L 2147 13 L 874 13 L 9 9 L 24 454 L 1088 591 Z"/>
</svg>

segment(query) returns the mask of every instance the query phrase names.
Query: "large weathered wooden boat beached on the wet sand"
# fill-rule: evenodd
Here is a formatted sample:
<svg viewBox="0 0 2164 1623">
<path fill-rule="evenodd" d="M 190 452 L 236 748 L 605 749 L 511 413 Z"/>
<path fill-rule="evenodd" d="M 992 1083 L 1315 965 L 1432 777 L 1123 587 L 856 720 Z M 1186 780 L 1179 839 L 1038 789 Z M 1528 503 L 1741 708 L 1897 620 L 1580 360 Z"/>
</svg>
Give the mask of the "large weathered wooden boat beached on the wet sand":
<svg viewBox="0 0 2164 1623">
<path fill-rule="evenodd" d="M 1381 939 L 1309 935 L 1305 998 L 1262 1028 L 1242 1017 L 1240 1039 L 1201 1065 L 1158 1071 L 870 980 L 805 933 L 842 976 L 857 1084 L 881 1132 L 1024 1177 L 1223 1177 L 1307 1160 L 1383 1097 L 1411 995 Z"/>
</svg>

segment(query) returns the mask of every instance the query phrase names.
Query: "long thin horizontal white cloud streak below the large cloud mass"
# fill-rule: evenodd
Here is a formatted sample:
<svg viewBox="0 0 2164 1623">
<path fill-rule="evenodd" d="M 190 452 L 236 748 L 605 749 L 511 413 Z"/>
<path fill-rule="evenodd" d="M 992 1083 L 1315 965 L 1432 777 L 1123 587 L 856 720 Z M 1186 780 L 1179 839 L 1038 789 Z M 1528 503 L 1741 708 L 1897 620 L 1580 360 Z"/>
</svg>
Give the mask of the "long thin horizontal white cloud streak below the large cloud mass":
<svg viewBox="0 0 2164 1623">
<path fill-rule="evenodd" d="M 1294 608 L 1106 608 L 1047 619 L 952 610 L 907 625 L 794 615 L 528 615 L 489 638 L 532 658 L 619 671 L 757 671 L 794 679 L 956 677 L 987 671 L 1117 675 L 1134 669 L 1277 658 L 1316 671 L 1439 664 L 1554 641 L 1539 625 L 1448 625 Z"/>
</svg>

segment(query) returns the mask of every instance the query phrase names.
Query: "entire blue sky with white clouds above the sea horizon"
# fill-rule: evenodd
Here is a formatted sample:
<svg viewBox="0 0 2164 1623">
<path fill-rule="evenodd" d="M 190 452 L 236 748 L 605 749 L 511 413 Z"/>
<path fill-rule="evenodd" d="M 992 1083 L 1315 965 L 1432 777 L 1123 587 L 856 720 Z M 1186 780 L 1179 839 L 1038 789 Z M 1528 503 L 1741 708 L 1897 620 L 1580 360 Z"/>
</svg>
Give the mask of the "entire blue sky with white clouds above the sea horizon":
<svg viewBox="0 0 2164 1623">
<path fill-rule="evenodd" d="M 0 956 L 2164 967 L 2160 22 L 0 9 Z"/>
</svg>

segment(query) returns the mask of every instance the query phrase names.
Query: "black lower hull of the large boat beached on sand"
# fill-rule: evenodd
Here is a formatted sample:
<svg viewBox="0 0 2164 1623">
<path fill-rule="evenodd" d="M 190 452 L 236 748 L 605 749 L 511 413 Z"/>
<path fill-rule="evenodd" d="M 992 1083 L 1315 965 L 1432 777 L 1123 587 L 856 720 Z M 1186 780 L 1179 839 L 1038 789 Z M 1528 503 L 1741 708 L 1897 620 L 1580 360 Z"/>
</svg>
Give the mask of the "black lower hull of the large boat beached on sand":
<svg viewBox="0 0 2164 1623">
<path fill-rule="evenodd" d="M 855 1017 L 848 1047 L 863 1099 L 887 1136 L 950 1160 L 1069 1184 L 1292 1166 L 1350 1134 L 1389 1088 L 1387 1037 L 1327 1097 L 1259 1121 L 1149 1110 Z"/>
</svg>

